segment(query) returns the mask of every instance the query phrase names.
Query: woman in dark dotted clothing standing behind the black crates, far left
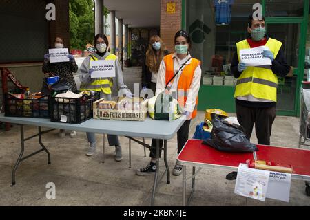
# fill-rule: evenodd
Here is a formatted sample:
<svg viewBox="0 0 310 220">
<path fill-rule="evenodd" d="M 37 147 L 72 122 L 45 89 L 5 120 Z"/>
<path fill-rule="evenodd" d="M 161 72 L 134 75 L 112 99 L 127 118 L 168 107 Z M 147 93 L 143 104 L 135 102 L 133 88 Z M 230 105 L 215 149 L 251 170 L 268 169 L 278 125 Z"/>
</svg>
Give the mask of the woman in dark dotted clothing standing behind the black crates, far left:
<svg viewBox="0 0 310 220">
<path fill-rule="evenodd" d="M 63 48 L 63 39 L 57 36 L 54 41 L 54 48 Z M 44 55 L 44 62 L 42 67 L 42 72 L 51 76 L 59 76 L 59 79 L 63 79 L 65 83 L 68 83 L 72 86 L 72 91 L 76 89 L 76 83 L 73 78 L 72 72 L 76 73 L 78 70 L 78 66 L 75 63 L 74 56 L 69 54 L 68 55 L 69 62 L 60 62 L 60 63 L 50 63 L 50 54 Z M 60 130 L 59 132 L 60 137 L 65 137 L 65 130 Z M 75 137 L 76 131 L 70 132 L 70 137 Z"/>
</svg>

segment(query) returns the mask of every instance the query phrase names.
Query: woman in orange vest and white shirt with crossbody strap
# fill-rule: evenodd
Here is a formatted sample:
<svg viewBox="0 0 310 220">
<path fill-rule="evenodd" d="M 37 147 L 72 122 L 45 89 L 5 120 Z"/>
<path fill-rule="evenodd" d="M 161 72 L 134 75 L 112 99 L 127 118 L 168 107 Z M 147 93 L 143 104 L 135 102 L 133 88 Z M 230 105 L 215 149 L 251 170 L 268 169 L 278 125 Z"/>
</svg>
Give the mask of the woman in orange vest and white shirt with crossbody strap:
<svg viewBox="0 0 310 220">
<path fill-rule="evenodd" d="M 189 124 L 192 118 L 195 118 L 198 104 L 198 91 L 200 88 L 201 68 L 200 61 L 192 58 L 189 54 L 191 47 L 191 39 L 189 34 L 184 30 L 176 32 L 174 36 L 174 45 L 176 52 L 169 54 L 163 58 L 158 71 L 156 83 L 156 94 L 164 91 L 166 86 L 170 94 L 178 100 L 183 107 L 183 114 L 186 121 L 180 127 L 177 133 L 178 153 L 182 150 L 185 142 L 187 142 L 189 134 Z M 184 65 L 183 65 L 184 64 Z M 179 71 L 178 71 L 179 70 Z M 174 77 L 174 74 L 178 74 Z M 174 79 L 169 83 L 169 80 Z M 169 84 L 168 84 L 169 83 Z M 163 141 L 160 140 L 160 154 Z M 136 170 L 136 175 L 149 175 L 156 171 L 155 148 L 150 152 L 151 162 L 145 167 Z M 182 166 L 176 164 L 172 172 L 173 175 L 180 175 Z"/>
</svg>

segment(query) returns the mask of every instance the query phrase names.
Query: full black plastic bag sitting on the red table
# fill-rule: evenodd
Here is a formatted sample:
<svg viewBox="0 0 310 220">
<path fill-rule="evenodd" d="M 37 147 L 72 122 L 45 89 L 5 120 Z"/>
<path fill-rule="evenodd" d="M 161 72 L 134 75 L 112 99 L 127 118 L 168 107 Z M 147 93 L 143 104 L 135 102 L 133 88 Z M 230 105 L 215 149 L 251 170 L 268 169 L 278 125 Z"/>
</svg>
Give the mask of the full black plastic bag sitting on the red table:
<svg viewBox="0 0 310 220">
<path fill-rule="evenodd" d="M 203 140 L 203 144 L 216 148 L 218 151 L 236 153 L 258 151 L 256 144 L 252 144 L 247 139 L 242 126 L 229 124 L 215 114 L 212 114 L 211 118 L 213 124 L 211 138 Z"/>
</svg>

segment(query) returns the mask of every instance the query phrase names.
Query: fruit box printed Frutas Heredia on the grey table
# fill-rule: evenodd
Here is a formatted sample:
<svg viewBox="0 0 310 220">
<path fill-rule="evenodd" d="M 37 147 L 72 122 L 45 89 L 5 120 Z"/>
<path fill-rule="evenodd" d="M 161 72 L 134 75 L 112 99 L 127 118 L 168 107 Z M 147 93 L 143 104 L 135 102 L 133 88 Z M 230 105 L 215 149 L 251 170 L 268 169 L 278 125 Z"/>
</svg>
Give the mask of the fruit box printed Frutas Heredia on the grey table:
<svg viewBox="0 0 310 220">
<path fill-rule="evenodd" d="M 118 99 L 118 102 L 122 98 Z M 136 99 L 136 98 L 134 98 Z M 138 98 L 139 99 L 139 98 Z M 101 98 L 93 104 L 93 118 L 95 119 L 110 119 L 110 120 L 128 120 L 128 121 L 144 121 L 147 117 L 147 102 L 148 99 L 140 102 L 140 110 L 122 110 L 122 109 L 99 109 L 97 104 L 103 101 Z"/>
</svg>

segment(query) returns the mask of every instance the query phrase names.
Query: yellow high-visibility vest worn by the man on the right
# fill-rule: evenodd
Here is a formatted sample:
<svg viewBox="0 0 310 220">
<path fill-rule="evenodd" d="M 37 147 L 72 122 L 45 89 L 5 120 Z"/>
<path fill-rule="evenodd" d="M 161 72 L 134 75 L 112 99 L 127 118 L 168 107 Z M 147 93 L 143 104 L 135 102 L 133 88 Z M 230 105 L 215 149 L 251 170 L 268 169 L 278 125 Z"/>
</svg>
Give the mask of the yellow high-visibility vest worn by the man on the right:
<svg viewBox="0 0 310 220">
<path fill-rule="evenodd" d="M 237 44 L 238 59 L 240 62 L 240 50 L 251 48 L 247 40 Z M 266 45 L 276 58 L 282 42 L 269 38 Z M 262 67 L 247 67 L 239 76 L 236 84 L 234 98 L 238 96 L 252 95 L 255 98 L 277 101 L 278 77 L 270 69 Z"/>
</svg>

